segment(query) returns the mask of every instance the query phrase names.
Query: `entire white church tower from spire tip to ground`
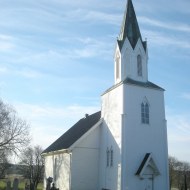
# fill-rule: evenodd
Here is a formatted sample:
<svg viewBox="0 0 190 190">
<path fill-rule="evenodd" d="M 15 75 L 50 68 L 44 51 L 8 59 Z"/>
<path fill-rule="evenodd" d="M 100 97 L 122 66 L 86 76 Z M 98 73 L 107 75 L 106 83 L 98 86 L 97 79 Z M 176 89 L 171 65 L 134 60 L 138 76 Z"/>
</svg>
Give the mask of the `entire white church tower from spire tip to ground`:
<svg viewBox="0 0 190 190">
<path fill-rule="evenodd" d="M 131 0 L 117 38 L 114 68 L 114 85 L 102 95 L 102 155 L 111 147 L 113 164 L 105 170 L 101 165 L 101 187 L 169 190 L 164 89 L 148 79 L 147 42 Z"/>
</svg>

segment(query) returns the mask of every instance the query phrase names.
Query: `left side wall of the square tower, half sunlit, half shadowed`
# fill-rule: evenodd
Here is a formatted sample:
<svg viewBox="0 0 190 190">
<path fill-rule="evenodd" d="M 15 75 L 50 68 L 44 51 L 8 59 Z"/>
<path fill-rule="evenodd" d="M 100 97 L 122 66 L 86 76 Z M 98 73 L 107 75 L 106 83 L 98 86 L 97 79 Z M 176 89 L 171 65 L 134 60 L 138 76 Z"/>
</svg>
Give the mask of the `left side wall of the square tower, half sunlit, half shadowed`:
<svg viewBox="0 0 190 190">
<path fill-rule="evenodd" d="M 122 85 L 102 96 L 99 189 L 120 189 Z M 113 166 L 106 164 L 107 149 L 113 149 Z"/>
</svg>

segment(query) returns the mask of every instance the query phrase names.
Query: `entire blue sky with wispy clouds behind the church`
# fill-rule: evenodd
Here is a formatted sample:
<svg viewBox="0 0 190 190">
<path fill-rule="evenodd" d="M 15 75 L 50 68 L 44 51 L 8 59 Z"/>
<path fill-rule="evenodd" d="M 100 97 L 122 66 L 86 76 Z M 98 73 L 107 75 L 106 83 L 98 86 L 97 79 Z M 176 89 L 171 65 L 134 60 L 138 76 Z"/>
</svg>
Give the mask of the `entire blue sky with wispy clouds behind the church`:
<svg viewBox="0 0 190 190">
<path fill-rule="evenodd" d="M 166 89 L 169 154 L 190 162 L 190 1 L 133 0 L 149 80 Z M 0 0 L 0 97 L 49 146 L 113 85 L 126 0 Z"/>
</svg>

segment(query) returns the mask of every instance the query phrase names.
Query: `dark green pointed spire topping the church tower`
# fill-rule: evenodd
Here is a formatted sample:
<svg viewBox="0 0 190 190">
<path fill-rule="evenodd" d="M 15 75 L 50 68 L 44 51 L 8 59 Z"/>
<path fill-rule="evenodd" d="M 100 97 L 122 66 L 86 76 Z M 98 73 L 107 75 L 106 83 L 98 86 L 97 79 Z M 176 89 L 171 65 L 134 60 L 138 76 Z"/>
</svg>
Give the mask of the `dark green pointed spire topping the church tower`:
<svg viewBox="0 0 190 190">
<path fill-rule="evenodd" d="M 139 38 L 142 41 L 135 10 L 131 0 L 128 0 L 127 2 L 123 23 L 121 26 L 121 32 L 118 38 L 120 48 L 122 48 L 126 38 L 128 38 L 133 48 L 135 48 Z"/>
</svg>

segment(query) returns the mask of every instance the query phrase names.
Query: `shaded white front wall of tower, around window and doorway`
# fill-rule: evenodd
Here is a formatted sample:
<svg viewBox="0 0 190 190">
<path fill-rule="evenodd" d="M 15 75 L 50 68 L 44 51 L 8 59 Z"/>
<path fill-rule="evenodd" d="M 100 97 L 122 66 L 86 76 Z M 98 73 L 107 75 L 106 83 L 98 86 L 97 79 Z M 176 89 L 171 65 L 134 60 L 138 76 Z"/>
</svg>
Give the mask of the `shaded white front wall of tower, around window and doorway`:
<svg viewBox="0 0 190 190">
<path fill-rule="evenodd" d="M 150 124 L 141 123 L 141 103 L 150 105 Z M 154 180 L 154 190 L 168 189 L 167 138 L 163 91 L 125 85 L 125 143 L 123 145 L 124 189 L 143 188 L 135 176 L 146 153 L 152 153 L 161 175 Z"/>
</svg>

